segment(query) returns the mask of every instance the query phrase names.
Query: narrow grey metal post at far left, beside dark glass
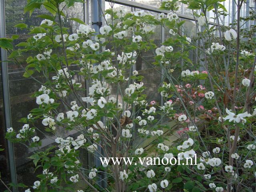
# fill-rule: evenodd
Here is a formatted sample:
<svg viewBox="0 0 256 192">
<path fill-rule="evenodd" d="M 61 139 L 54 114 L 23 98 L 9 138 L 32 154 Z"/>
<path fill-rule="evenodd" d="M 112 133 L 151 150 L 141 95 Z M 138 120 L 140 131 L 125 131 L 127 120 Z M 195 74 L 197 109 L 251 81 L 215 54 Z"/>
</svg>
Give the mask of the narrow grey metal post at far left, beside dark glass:
<svg viewBox="0 0 256 192">
<path fill-rule="evenodd" d="M 4 1 L 0 0 L 0 38 L 6 37 L 5 32 L 5 13 L 4 13 Z M 11 118 L 11 107 L 10 107 L 10 94 L 9 94 L 9 84 L 8 84 L 8 65 L 7 62 L 7 52 L 6 50 L 0 48 L 1 50 L 1 71 L 2 71 L 2 82 L 3 82 L 3 97 L 4 97 L 4 116 L 5 116 L 5 124 L 6 128 L 12 126 L 12 118 Z M 10 164 L 10 172 L 11 172 L 11 180 L 13 184 L 17 184 L 16 177 L 16 166 L 15 166 L 15 158 L 14 158 L 14 148 L 12 143 L 8 140 L 8 156 L 9 156 L 9 164 Z M 17 188 L 12 188 L 13 192 L 17 192 Z"/>
</svg>

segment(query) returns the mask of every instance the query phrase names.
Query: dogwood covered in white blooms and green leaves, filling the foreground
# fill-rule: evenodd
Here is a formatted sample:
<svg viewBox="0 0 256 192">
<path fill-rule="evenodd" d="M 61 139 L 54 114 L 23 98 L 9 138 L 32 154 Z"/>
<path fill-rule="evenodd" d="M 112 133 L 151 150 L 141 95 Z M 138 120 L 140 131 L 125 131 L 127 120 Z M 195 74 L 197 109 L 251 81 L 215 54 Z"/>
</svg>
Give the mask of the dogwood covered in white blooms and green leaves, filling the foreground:
<svg viewBox="0 0 256 192">
<path fill-rule="evenodd" d="M 33 94 L 38 108 L 20 120 L 24 123 L 20 130 L 8 128 L 6 134 L 12 142 L 35 149 L 30 158 L 42 174 L 25 191 L 255 190 L 256 58 L 250 53 L 255 38 L 240 29 L 241 20 L 248 22 L 254 13 L 240 18 L 243 0 L 237 1 L 237 19 L 229 27 L 222 23 L 220 16 L 227 13 L 218 0 L 173 0 L 162 3 L 161 9 L 170 12 L 157 18 L 143 10 L 124 14 L 111 3 L 111 9 L 102 11 L 110 19 L 100 34 L 78 19 L 73 19 L 80 23 L 76 34 L 68 34 L 63 9 L 74 2 L 82 0 L 28 1 L 25 11 L 44 6 L 51 15 L 40 16 L 40 26 L 29 28 L 32 35 L 17 45 L 22 47 L 18 50 L 12 51 L 12 39 L 0 39 L 9 59 L 21 66 L 19 57 L 31 53 L 28 65 L 22 66 L 24 76 L 41 84 Z M 176 14 L 181 3 L 192 10 L 200 31 L 194 38 L 186 36 L 185 21 Z M 210 10 L 215 12 L 214 27 L 207 17 Z M 150 37 L 159 25 L 170 38 L 157 47 Z M 154 54 L 155 72 L 164 76 L 157 90 L 164 98 L 162 106 L 144 94 L 143 76 L 133 68 L 146 51 Z M 190 51 L 198 63 L 189 59 Z M 44 76 L 42 82 L 33 76 L 35 72 Z M 88 82 L 86 96 L 78 75 Z M 164 118 L 176 122 L 174 131 L 180 134 L 172 146 L 165 142 L 164 132 L 172 128 L 163 123 Z M 35 131 L 42 129 L 37 122 L 55 135 L 55 146 L 39 150 L 42 143 Z M 62 138 L 58 130 L 64 129 L 79 134 Z M 138 138 L 140 142 L 135 142 Z M 144 140 L 151 142 L 154 155 L 142 148 Z M 79 159 L 81 148 L 96 158 L 134 160 L 86 169 Z M 167 161 L 176 157 L 183 165 L 138 163 L 149 156 Z M 195 157 L 196 165 L 184 165 L 186 158 Z M 106 188 L 97 182 L 101 174 Z"/>
</svg>

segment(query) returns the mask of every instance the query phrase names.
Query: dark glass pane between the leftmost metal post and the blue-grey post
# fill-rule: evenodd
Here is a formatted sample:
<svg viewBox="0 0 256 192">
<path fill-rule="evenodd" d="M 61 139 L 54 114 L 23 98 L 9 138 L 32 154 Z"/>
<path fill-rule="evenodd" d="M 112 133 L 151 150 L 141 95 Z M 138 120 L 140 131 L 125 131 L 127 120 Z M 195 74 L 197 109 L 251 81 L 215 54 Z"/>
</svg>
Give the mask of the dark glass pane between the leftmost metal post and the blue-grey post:
<svg viewBox="0 0 256 192">
<path fill-rule="evenodd" d="M 29 13 L 24 13 L 23 8 L 26 5 L 27 0 L 5 0 L 5 14 L 6 14 L 6 36 L 10 38 L 13 34 L 18 34 L 20 37 L 14 41 L 15 45 L 25 41 L 28 37 L 32 36 L 28 34 L 28 30 L 20 30 L 14 25 L 18 23 L 25 23 L 28 26 L 39 26 L 42 19 L 37 17 L 41 14 L 48 14 L 48 11 L 44 8 L 38 10 L 36 9 L 32 16 L 29 17 Z M 82 5 L 82 6 L 81 6 Z M 64 26 L 69 28 L 69 33 L 76 33 L 78 28 L 78 23 L 67 18 L 80 18 L 84 20 L 84 6 L 83 4 L 74 4 L 72 8 L 68 10 L 64 8 L 64 13 L 66 18 L 62 18 Z M 9 89 L 10 89 L 10 102 L 11 102 L 11 115 L 12 115 L 12 126 L 14 130 L 18 131 L 22 128 L 23 124 L 18 122 L 20 118 L 26 117 L 29 114 L 29 111 L 33 108 L 37 108 L 38 105 L 35 102 L 34 98 L 30 96 L 40 88 L 40 83 L 33 80 L 33 78 L 24 78 L 24 67 L 26 67 L 26 58 L 28 56 L 33 56 L 33 53 L 28 53 L 24 57 L 20 58 L 19 62 L 22 65 L 18 66 L 17 64 L 8 63 L 8 75 L 9 75 Z M 75 67 L 75 66 L 74 66 Z M 40 82 L 44 82 L 42 74 L 33 74 Z M 77 82 L 85 84 L 84 81 L 81 81 L 80 77 L 74 77 Z M 71 100 L 71 99 L 70 99 Z M 35 125 L 38 128 L 44 130 L 41 123 Z M 58 135 L 68 136 L 76 132 L 69 132 L 67 130 L 59 129 Z M 47 134 L 47 136 L 46 136 Z M 3 134 L 1 134 L 3 135 Z M 49 146 L 54 142 L 52 134 L 41 132 L 36 133 L 37 136 L 42 140 L 41 148 Z M 28 156 L 32 154 L 32 150 L 28 150 L 25 146 L 21 144 L 14 145 L 15 160 L 16 160 L 16 170 L 18 182 L 22 182 L 26 185 L 31 185 L 32 182 L 36 179 L 34 178 L 36 174 L 40 174 L 42 170 L 36 170 L 34 173 L 34 165 L 29 161 Z M 2 167 L 2 166 L 1 166 Z"/>
</svg>

